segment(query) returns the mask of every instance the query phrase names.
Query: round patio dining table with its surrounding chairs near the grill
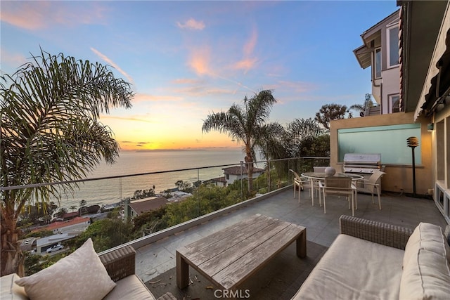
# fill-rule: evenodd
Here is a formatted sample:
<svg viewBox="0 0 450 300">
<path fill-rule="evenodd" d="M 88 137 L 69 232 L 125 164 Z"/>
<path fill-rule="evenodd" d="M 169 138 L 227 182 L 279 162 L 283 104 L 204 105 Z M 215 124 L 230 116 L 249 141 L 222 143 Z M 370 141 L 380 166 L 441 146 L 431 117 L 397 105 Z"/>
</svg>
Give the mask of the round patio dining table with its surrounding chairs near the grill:
<svg viewBox="0 0 450 300">
<path fill-rule="evenodd" d="M 314 167 L 312 172 L 304 172 L 297 174 L 293 169 L 289 170 L 293 173 L 293 188 L 294 197 L 298 190 L 298 202 L 300 202 L 300 192 L 304 188 L 309 188 L 309 196 L 311 197 L 312 205 L 314 206 L 314 195 L 319 195 L 319 205 L 322 207 L 323 213 L 326 214 L 326 197 L 327 196 L 344 196 L 347 197 L 349 209 L 352 209 L 352 216 L 354 210 L 358 209 L 357 196 L 358 192 L 368 193 L 372 195 L 372 202 L 374 203 L 374 195 L 378 196 L 378 207 L 381 209 L 381 188 L 380 178 L 385 172 L 380 170 L 373 170 L 371 176 L 365 178 L 360 174 L 352 173 L 336 173 L 332 167 Z"/>
</svg>

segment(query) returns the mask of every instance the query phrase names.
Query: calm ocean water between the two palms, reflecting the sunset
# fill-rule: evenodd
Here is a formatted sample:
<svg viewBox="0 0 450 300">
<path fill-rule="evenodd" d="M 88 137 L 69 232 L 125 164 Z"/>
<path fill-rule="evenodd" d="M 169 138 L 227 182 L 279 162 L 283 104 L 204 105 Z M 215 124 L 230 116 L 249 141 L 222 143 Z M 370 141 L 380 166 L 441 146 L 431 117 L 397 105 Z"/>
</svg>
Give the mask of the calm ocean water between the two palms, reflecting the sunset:
<svg viewBox="0 0 450 300">
<path fill-rule="evenodd" d="M 127 176 L 149 172 L 162 172 L 180 169 L 219 166 L 224 164 L 240 164 L 244 154 L 241 148 L 212 148 L 195 150 L 153 150 L 122 151 L 115 164 L 99 164 L 88 178 L 108 176 Z M 148 190 L 155 185 L 155 192 L 160 193 L 168 188 L 175 188 L 175 182 L 205 181 L 223 176 L 224 167 L 210 167 L 191 171 L 174 171 L 142 176 L 102 179 L 79 183 L 75 193 L 62 193 L 59 207 L 71 211 L 70 206 L 79 207 L 85 200 L 87 205 L 107 205 L 120 202 L 131 197 L 136 190 Z"/>
</svg>

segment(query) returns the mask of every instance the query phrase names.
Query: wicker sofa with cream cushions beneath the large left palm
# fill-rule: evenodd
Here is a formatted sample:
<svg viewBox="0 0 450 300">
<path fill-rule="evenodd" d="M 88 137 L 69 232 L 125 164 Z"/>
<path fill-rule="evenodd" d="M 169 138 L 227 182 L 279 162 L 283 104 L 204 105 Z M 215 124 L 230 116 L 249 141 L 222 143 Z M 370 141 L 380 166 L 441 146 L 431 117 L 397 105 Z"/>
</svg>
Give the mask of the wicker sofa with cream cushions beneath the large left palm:
<svg viewBox="0 0 450 300">
<path fill-rule="evenodd" d="M 87 246 L 85 246 L 86 243 L 88 244 Z M 91 240 L 89 239 L 86 243 L 75 252 L 78 252 L 82 248 L 90 247 L 91 249 L 87 249 L 89 253 L 86 254 L 86 249 L 82 249 L 83 251 L 79 253 L 78 256 L 74 252 L 64 259 L 61 259 L 60 261 L 62 261 L 62 263 L 60 263 L 60 261 L 57 262 L 60 263 L 60 265 L 63 265 L 63 267 L 56 266 L 56 268 L 54 268 L 53 266 L 57 264 L 55 263 L 55 265 L 44 269 L 49 270 L 53 267 L 53 270 L 49 270 L 49 274 L 44 274 L 44 276 L 49 276 L 47 278 L 39 275 L 39 273 L 42 273 L 44 270 L 34 274 L 37 275 L 37 278 L 33 278 L 34 275 L 24 277 L 29 280 L 27 285 L 25 285 L 25 288 L 17 284 L 17 282 L 20 282 L 20 277 L 17 274 L 2 276 L 0 278 L 0 299 L 156 299 L 147 289 L 146 285 L 144 285 L 135 274 L 136 252 L 133 247 L 121 247 L 97 256 L 92 247 Z M 93 253 L 97 259 L 94 257 Z M 72 256 L 72 258 L 70 258 L 70 256 Z M 91 256 L 91 258 L 89 258 L 89 256 Z M 66 261 L 63 261 L 65 259 Z M 72 261 L 70 261 L 71 259 Z M 68 263 L 68 261 L 70 261 L 70 263 Z M 98 266 L 96 266 L 100 261 L 101 265 L 104 266 L 102 270 L 99 270 Z M 77 278 L 77 270 L 72 270 L 70 273 L 64 273 L 63 271 L 63 269 L 68 269 L 73 266 L 74 263 L 79 263 L 79 266 L 77 267 L 81 272 L 84 272 L 79 278 Z M 97 270 L 95 270 L 95 268 L 97 268 Z M 106 272 L 105 276 L 102 274 L 103 271 Z M 89 275 L 92 276 L 89 277 Z M 39 278 L 39 276 L 41 276 L 41 278 Z M 64 279 L 64 277 L 67 278 Z M 56 280 L 65 282 L 65 286 L 60 286 Z M 81 281 L 84 282 L 77 285 L 77 283 Z M 33 285 L 41 285 L 41 287 L 37 290 Z M 49 287 L 49 285 L 51 286 Z M 25 289 L 27 289 L 29 293 L 32 292 L 33 296 L 29 297 L 27 292 L 25 292 Z M 75 294 L 72 292 L 75 292 Z M 99 292 L 100 294 L 98 294 Z M 103 296 L 103 294 L 105 294 L 105 296 Z M 176 300 L 171 293 L 166 293 L 158 298 L 158 300 L 173 299 Z"/>
</svg>

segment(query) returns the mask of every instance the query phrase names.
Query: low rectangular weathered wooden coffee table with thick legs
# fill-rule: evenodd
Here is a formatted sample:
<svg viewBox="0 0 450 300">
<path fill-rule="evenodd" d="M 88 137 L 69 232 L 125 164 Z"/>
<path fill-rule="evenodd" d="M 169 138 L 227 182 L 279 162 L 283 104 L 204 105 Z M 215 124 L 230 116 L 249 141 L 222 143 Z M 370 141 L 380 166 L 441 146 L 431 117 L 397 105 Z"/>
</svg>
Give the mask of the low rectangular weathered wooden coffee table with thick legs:
<svg viewBox="0 0 450 300">
<path fill-rule="evenodd" d="M 305 257 L 306 228 L 257 214 L 177 249 L 176 285 L 188 286 L 191 266 L 221 289 L 236 289 L 294 241 Z"/>
</svg>

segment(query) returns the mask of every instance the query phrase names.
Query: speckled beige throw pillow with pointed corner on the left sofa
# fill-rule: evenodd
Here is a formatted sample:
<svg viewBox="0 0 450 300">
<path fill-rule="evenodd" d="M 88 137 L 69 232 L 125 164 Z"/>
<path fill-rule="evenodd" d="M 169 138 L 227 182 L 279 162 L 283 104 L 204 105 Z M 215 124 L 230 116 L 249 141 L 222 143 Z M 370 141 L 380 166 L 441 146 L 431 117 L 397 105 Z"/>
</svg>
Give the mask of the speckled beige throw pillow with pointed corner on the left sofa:
<svg viewBox="0 0 450 300">
<path fill-rule="evenodd" d="M 20 278 L 15 283 L 25 287 L 31 300 L 98 300 L 115 287 L 90 238 L 82 247 L 49 268 Z"/>
</svg>

